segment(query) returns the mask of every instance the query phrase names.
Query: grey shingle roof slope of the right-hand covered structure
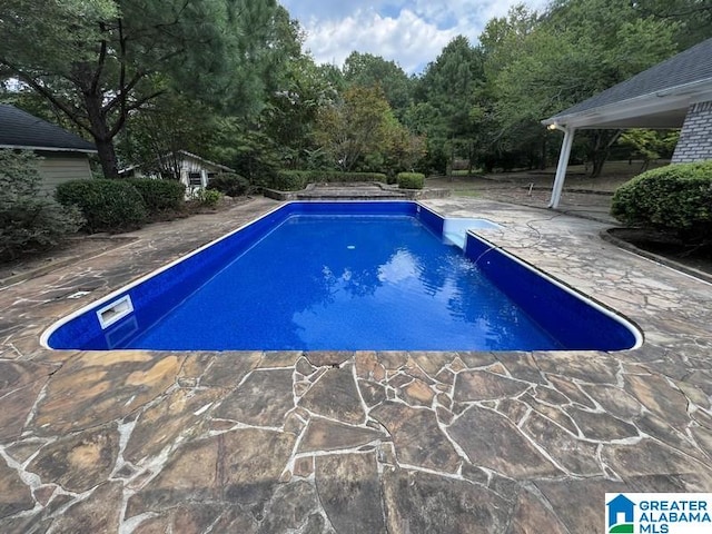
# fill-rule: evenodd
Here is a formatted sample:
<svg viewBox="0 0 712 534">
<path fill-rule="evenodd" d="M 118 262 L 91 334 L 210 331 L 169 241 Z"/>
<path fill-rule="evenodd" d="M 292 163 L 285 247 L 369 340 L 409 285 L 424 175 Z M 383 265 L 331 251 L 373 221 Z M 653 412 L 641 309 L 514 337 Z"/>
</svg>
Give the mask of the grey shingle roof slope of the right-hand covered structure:
<svg viewBox="0 0 712 534">
<path fill-rule="evenodd" d="M 708 39 L 583 102 L 561 111 L 552 119 L 711 79 L 712 39 Z"/>
</svg>

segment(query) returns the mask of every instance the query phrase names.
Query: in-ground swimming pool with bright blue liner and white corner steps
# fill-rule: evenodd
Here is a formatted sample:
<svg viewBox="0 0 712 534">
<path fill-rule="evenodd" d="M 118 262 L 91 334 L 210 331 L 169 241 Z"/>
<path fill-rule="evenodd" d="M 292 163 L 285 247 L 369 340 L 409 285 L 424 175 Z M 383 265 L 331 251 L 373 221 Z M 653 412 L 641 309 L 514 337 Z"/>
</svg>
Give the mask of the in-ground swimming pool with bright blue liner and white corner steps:
<svg viewBox="0 0 712 534">
<path fill-rule="evenodd" d="M 622 317 L 466 231 L 487 226 L 496 225 L 444 219 L 411 201 L 289 202 L 56 323 L 42 344 L 160 350 L 640 344 Z"/>
</svg>

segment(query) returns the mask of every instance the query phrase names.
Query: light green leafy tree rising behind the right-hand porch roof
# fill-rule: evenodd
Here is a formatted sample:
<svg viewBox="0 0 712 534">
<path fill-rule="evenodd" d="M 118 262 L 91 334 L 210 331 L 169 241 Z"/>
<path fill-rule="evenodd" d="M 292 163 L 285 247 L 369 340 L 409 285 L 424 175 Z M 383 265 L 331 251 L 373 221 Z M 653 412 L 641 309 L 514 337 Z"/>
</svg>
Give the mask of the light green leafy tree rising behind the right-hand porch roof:
<svg viewBox="0 0 712 534">
<path fill-rule="evenodd" d="M 627 0 L 553 2 L 523 37 L 504 41 L 501 55 L 507 61 L 493 73 L 501 127 L 533 128 L 542 118 L 670 57 L 675 31 L 674 23 L 641 18 Z M 538 131 L 538 138 L 546 139 L 544 129 Z M 597 176 L 620 132 L 584 135 Z"/>
</svg>

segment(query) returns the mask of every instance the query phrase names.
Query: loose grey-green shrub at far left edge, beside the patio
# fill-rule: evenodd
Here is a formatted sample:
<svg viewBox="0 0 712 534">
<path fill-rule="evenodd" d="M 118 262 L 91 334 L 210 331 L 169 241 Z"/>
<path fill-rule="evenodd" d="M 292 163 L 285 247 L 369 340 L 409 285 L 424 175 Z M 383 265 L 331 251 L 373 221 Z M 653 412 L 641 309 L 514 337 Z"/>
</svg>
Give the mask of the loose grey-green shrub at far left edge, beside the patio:
<svg viewBox="0 0 712 534">
<path fill-rule="evenodd" d="M 0 150 L 0 258 L 47 250 L 83 224 L 81 214 L 40 191 L 32 152 Z"/>
</svg>

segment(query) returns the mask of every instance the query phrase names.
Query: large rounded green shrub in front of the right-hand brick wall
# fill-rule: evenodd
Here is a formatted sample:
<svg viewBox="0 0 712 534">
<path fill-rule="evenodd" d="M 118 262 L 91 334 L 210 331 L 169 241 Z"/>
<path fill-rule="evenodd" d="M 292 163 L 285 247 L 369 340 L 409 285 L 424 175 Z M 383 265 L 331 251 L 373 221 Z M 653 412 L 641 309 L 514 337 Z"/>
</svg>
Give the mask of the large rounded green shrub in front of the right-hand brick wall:
<svg viewBox="0 0 712 534">
<path fill-rule="evenodd" d="M 611 214 L 626 225 L 712 235 L 712 160 L 649 170 L 613 195 Z"/>
</svg>

